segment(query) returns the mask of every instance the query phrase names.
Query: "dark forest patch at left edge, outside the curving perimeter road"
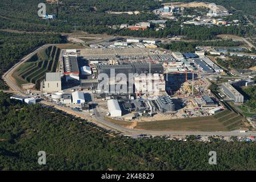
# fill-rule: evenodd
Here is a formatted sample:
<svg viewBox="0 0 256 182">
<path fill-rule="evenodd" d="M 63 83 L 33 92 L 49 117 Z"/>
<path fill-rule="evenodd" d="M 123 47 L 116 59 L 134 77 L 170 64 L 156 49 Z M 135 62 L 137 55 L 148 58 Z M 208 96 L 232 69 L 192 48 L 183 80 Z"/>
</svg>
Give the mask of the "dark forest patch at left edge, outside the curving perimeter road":
<svg viewBox="0 0 256 182">
<path fill-rule="evenodd" d="M 18 63 L 23 56 L 44 44 L 64 43 L 65 39 L 59 34 L 30 34 L 0 31 L 0 89 L 8 89 L 2 80 L 2 75 Z"/>
</svg>

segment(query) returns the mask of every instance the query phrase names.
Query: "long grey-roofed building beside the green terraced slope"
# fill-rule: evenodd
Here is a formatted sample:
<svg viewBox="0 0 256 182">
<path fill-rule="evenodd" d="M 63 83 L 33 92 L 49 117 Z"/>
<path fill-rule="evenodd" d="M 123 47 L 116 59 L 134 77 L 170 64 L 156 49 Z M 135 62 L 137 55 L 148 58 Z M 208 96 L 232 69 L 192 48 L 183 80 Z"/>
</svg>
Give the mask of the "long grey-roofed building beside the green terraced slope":
<svg viewBox="0 0 256 182">
<path fill-rule="evenodd" d="M 77 64 L 76 55 L 64 55 L 64 75 L 67 81 L 69 80 L 80 80 L 79 78 L 79 66 Z"/>
</svg>

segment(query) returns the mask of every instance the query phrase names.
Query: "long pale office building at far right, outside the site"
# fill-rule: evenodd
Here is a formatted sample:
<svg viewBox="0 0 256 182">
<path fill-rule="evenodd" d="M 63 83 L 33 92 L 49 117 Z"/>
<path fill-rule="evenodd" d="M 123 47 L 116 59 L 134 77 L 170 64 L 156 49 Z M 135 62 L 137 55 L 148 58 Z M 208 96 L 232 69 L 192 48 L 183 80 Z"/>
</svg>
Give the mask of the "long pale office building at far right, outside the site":
<svg viewBox="0 0 256 182">
<path fill-rule="evenodd" d="M 240 92 L 238 92 L 229 82 L 222 84 L 221 89 L 227 96 L 232 98 L 234 102 L 243 102 L 243 95 Z"/>
</svg>

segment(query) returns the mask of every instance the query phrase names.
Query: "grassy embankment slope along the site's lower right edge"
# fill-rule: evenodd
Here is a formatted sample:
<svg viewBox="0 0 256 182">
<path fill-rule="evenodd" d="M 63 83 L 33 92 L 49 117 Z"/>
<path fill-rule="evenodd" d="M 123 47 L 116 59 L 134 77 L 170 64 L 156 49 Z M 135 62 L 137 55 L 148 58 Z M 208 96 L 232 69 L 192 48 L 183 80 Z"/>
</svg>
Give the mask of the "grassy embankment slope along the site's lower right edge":
<svg viewBox="0 0 256 182">
<path fill-rule="evenodd" d="M 142 130 L 170 130 L 170 131 L 231 131 L 243 126 L 243 117 L 230 110 L 224 110 L 216 115 L 199 118 L 181 118 L 164 121 L 138 122 L 135 129 Z M 110 122 L 130 127 L 133 122 L 115 121 Z"/>
</svg>

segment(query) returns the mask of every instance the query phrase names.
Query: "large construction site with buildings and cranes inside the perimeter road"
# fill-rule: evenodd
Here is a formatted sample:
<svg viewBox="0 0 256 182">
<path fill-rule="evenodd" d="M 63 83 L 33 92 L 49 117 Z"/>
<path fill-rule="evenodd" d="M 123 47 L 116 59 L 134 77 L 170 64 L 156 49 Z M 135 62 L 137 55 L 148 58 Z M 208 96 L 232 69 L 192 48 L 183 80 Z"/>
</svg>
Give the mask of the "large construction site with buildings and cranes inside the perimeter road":
<svg viewBox="0 0 256 182">
<path fill-rule="evenodd" d="M 156 122 L 161 130 L 164 125 L 196 130 L 203 122 L 206 131 L 241 127 L 242 118 L 233 112 L 213 117 L 226 111 L 226 106 L 210 91 L 209 80 L 225 73 L 204 53 L 140 47 L 142 42 L 157 46 L 157 40 L 124 41 L 116 39 L 82 49 L 48 47 L 46 55 L 59 63 L 53 62 L 54 70 L 40 75 L 41 92 L 36 92 L 30 103 L 42 99 L 88 118 L 98 113 L 98 118 L 138 129 L 154 130 Z M 220 122 L 224 116 L 228 123 Z"/>
</svg>

